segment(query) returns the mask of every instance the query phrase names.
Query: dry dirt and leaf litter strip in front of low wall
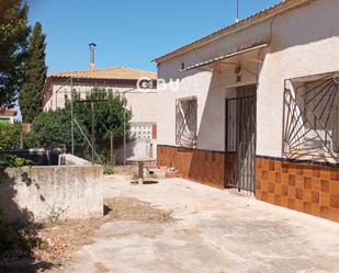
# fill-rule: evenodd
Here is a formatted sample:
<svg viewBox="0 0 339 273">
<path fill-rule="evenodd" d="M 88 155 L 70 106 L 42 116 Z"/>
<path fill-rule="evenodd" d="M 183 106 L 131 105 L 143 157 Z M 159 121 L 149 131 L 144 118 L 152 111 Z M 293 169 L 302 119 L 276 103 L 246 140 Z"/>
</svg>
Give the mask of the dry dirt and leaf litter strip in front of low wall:
<svg viewBox="0 0 339 273">
<path fill-rule="evenodd" d="M 92 243 L 94 231 L 103 224 L 114 220 L 166 223 L 172 221 L 173 218 L 171 212 L 158 209 L 137 198 L 105 198 L 104 217 L 100 219 L 46 224 L 37 229 L 37 236 L 46 247 L 33 250 L 36 263 L 32 266 L 23 264 L 19 269 L 8 268 L 4 272 L 64 272 L 64 266 L 71 262 L 74 252 L 83 244 Z M 98 272 L 105 272 L 102 264 L 98 263 L 95 266 Z"/>
</svg>

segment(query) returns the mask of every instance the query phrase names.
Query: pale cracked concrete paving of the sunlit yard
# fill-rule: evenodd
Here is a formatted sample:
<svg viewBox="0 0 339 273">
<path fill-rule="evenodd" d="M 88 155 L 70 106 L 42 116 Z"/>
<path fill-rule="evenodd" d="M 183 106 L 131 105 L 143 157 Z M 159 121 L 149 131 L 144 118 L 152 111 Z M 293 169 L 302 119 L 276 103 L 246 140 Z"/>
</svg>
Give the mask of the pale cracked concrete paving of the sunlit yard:
<svg viewBox="0 0 339 273">
<path fill-rule="evenodd" d="M 183 179 L 109 177 L 105 197 L 149 202 L 176 220 L 104 224 L 66 272 L 339 272 L 338 223 Z"/>
</svg>

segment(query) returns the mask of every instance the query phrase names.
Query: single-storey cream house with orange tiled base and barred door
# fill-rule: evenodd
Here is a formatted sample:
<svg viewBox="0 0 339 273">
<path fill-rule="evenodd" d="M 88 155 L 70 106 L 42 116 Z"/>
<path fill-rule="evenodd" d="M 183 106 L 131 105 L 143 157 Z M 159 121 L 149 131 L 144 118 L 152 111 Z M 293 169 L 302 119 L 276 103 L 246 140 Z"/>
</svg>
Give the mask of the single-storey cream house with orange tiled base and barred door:
<svg viewBox="0 0 339 273">
<path fill-rule="evenodd" d="M 339 220 L 337 0 L 287 0 L 156 59 L 158 163 Z M 161 110 L 161 111 L 160 111 Z"/>
</svg>

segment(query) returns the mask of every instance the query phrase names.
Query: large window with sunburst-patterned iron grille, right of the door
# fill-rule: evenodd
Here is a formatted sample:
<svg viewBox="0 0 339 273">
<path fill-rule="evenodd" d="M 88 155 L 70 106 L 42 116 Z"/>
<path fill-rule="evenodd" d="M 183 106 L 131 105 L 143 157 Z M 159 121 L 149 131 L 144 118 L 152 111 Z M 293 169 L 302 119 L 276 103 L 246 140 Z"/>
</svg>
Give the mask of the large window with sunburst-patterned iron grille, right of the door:
<svg viewBox="0 0 339 273">
<path fill-rule="evenodd" d="M 285 82 L 283 152 L 287 158 L 338 162 L 336 73 Z"/>
</svg>

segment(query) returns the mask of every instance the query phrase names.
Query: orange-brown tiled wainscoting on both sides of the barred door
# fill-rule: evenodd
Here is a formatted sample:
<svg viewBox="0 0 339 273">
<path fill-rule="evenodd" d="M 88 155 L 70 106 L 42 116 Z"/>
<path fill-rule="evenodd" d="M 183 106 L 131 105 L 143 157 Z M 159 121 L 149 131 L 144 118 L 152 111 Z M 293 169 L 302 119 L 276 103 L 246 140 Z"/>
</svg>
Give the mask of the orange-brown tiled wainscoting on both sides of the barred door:
<svg viewBox="0 0 339 273">
<path fill-rule="evenodd" d="M 176 167 L 182 178 L 224 189 L 231 181 L 234 155 L 225 174 L 225 153 L 158 146 L 158 166 Z M 274 205 L 339 221 L 339 167 L 257 157 L 256 197 Z"/>
</svg>

